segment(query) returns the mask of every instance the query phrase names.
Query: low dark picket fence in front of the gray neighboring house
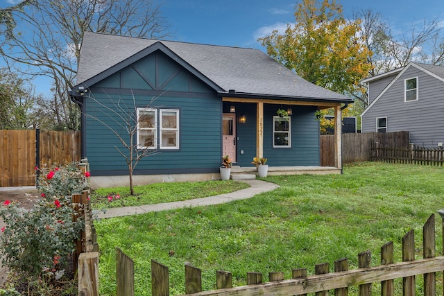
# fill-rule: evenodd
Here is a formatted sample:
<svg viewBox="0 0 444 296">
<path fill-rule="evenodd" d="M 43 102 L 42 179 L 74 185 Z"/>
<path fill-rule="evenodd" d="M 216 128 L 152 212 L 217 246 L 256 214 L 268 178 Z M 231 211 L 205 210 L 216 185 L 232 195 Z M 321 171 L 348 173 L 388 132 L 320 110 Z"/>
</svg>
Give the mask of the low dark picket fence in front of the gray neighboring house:
<svg viewBox="0 0 444 296">
<path fill-rule="evenodd" d="M 444 150 L 427 149 L 416 145 L 407 148 L 384 147 L 379 143 L 370 148 L 371 160 L 375 162 L 391 162 L 396 164 L 424 164 L 427 166 L 443 166 Z"/>
</svg>

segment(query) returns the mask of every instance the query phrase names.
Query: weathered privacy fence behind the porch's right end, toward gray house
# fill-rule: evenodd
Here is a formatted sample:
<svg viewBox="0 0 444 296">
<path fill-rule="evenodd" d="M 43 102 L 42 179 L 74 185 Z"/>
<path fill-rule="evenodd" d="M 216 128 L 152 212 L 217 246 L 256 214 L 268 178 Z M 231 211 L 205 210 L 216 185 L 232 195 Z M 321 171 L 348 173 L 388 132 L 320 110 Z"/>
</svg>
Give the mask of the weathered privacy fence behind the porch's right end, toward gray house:
<svg viewBox="0 0 444 296">
<path fill-rule="evenodd" d="M 367 132 L 342 134 L 342 162 L 366 162 L 372 160 L 375 143 L 384 147 L 406 148 L 409 132 Z M 321 135 L 321 166 L 334 166 L 334 134 Z"/>
</svg>

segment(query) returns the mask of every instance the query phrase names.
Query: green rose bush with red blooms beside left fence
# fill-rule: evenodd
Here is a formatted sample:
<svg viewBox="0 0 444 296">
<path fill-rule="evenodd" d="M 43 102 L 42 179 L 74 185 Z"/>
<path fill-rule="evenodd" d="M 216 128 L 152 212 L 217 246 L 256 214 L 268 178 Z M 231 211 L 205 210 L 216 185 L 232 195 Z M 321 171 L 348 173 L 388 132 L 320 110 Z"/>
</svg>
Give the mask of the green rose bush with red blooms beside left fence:
<svg viewBox="0 0 444 296">
<path fill-rule="evenodd" d="M 31 275 L 56 272 L 59 276 L 83 228 L 83 219 L 73 221 L 78 214 L 71 194 L 85 189 L 86 178 L 75 164 L 41 172 L 39 189 L 44 198 L 33 209 L 23 209 L 10 200 L 0 207 L 5 222 L 0 252 L 3 265 L 10 269 Z"/>
</svg>

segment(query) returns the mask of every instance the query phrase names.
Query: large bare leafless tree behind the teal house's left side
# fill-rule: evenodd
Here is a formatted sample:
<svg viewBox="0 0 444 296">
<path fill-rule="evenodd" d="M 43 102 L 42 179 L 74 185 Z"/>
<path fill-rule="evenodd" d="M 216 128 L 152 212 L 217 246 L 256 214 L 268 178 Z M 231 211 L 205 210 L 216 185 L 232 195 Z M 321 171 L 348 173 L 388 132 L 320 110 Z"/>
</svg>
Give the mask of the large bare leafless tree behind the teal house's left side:
<svg viewBox="0 0 444 296">
<path fill-rule="evenodd" d="M 85 31 L 163 38 L 169 25 L 150 0 L 26 0 L 0 10 L 0 53 L 10 71 L 48 76 L 51 98 L 40 107 L 56 129 L 78 129 L 67 92 L 75 84 Z"/>
</svg>

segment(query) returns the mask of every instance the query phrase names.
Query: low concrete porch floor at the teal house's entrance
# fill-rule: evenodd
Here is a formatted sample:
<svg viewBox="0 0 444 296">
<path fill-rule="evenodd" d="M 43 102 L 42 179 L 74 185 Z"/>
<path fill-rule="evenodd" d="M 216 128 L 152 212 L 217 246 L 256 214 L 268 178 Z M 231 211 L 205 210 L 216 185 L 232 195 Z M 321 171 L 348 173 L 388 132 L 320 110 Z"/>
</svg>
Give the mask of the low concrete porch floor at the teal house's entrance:
<svg viewBox="0 0 444 296">
<path fill-rule="evenodd" d="M 254 166 L 232 166 L 231 174 L 257 174 Z M 327 175 L 341 174 L 341 168 L 333 166 L 268 166 L 268 175 Z"/>
</svg>

